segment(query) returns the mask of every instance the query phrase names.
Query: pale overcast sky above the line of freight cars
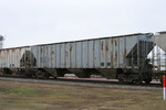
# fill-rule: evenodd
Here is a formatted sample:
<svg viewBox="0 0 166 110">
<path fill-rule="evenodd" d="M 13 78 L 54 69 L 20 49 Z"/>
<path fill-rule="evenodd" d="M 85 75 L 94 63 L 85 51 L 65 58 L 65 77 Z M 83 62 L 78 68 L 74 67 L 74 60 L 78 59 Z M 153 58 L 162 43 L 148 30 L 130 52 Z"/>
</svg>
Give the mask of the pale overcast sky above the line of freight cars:
<svg viewBox="0 0 166 110">
<path fill-rule="evenodd" d="M 0 0 L 4 47 L 166 31 L 166 0 Z"/>
</svg>

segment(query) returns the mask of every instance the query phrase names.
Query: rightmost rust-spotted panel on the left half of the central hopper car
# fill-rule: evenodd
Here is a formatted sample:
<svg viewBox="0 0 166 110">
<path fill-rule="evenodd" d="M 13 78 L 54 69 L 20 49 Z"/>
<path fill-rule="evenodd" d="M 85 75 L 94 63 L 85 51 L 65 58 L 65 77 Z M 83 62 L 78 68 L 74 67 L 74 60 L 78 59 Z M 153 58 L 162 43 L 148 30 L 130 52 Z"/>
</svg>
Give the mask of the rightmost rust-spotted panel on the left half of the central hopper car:
<svg viewBox="0 0 166 110">
<path fill-rule="evenodd" d="M 70 47 L 71 45 L 70 45 L 70 43 L 65 43 L 65 68 L 70 68 L 71 66 L 70 66 L 70 64 L 71 64 L 71 53 L 70 53 Z"/>
</svg>

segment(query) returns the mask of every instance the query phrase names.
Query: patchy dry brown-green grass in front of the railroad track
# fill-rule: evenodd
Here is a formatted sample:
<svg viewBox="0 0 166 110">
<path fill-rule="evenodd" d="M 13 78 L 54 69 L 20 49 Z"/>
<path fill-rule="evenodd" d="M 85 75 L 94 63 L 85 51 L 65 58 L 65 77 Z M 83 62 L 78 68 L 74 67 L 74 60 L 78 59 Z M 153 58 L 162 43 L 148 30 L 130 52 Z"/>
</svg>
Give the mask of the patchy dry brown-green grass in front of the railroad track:
<svg viewBox="0 0 166 110">
<path fill-rule="evenodd" d="M 0 110 L 165 110 L 160 90 L 87 88 L 0 80 Z"/>
</svg>

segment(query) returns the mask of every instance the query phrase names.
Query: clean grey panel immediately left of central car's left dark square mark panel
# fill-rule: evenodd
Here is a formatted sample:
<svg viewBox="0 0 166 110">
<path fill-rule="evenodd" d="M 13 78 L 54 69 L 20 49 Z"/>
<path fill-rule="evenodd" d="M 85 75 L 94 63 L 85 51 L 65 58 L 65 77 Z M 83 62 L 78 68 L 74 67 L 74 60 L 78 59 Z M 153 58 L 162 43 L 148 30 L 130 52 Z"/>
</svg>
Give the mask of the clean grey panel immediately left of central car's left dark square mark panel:
<svg viewBox="0 0 166 110">
<path fill-rule="evenodd" d="M 95 40 L 94 41 L 94 67 L 101 68 L 101 41 Z"/>
</svg>

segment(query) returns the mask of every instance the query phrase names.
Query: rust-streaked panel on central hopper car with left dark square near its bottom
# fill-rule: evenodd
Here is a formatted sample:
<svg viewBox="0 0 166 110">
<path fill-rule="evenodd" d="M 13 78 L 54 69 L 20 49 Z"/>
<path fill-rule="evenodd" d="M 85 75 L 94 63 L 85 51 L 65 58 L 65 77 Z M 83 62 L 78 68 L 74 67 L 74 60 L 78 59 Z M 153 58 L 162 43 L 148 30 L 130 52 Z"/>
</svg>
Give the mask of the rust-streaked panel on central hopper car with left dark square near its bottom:
<svg viewBox="0 0 166 110">
<path fill-rule="evenodd" d="M 101 40 L 101 68 L 106 68 L 106 43 Z"/>
</svg>

